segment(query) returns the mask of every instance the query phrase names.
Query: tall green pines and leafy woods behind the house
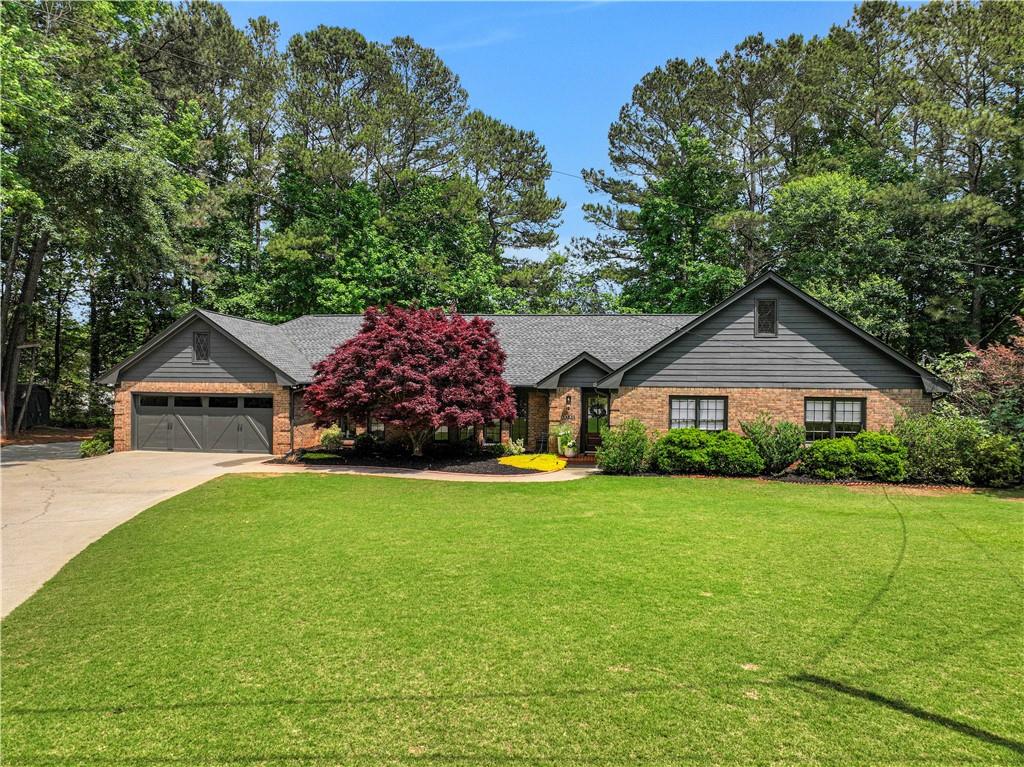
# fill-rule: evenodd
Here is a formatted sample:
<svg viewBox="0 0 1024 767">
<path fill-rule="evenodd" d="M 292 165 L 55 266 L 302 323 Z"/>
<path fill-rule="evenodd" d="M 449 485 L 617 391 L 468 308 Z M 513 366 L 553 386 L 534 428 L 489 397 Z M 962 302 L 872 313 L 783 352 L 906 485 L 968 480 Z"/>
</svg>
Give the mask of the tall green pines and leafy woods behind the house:
<svg viewBox="0 0 1024 767">
<path fill-rule="evenodd" d="M 104 418 L 90 382 L 196 306 L 693 312 L 775 268 L 934 358 L 1024 299 L 1019 4 L 871 3 L 667 62 L 584 172 L 600 235 L 561 252 L 543 144 L 410 38 L 283 45 L 205 1 L 0 14 L 8 413 L 31 365 L 55 418 Z"/>
</svg>

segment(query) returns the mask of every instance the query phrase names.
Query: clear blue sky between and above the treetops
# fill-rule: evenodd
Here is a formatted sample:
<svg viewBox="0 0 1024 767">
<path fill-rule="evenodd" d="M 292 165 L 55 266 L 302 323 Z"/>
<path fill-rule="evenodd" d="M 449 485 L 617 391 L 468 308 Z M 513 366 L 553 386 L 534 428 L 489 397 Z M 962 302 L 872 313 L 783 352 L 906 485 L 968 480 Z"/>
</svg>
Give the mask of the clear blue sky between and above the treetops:
<svg viewBox="0 0 1024 767">
<path fill-rule="evenodd" d="M 716 58 L 746 35 L 824 34 L 850 17 L 852 2 L 775 3 L 365 3 L 226 2 L 237 25 L 266 15 L 282 46 L 317 25 L 371 40 L 409 35 L 437 50 L 462 79 L 470 105 L 535 131 L 561 173 L 604 167 L 607 131 L 641 77 L 669 58 Z M 580 209 L 591 199 L 578 178 L 555 173 L 565 201 L 561 244 L 591 231 Z"/>
</svg>

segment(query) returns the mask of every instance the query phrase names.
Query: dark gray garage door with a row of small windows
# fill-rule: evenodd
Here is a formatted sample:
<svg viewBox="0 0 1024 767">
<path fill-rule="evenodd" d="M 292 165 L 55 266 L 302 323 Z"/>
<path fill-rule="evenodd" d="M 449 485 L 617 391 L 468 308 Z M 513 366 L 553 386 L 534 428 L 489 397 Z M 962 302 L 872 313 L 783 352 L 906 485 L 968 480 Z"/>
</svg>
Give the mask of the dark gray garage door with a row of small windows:
<svg viewBox="0 0 1024 767">
<path fill-rule="evenodd" d="M 273 397 L 136 394 L 135 450 L 270 453 Z"/>
</svg>

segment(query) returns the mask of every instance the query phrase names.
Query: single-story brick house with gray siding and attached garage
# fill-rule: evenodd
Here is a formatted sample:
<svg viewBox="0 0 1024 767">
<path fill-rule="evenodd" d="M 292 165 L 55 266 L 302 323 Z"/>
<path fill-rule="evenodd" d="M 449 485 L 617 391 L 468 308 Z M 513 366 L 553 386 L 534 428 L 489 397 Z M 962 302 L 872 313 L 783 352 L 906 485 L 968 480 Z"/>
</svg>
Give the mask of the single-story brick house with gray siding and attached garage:
<svg viewBox="0 0 1024 767">
<path fill-rule="evenodd" d="M 774 273 L 700 315 L 490 315 L 518 415 L 484 441 L 551 444 L 569 424 L 581 450 L 602 426 L 739 430 L 765 412 L 808 439 L 891 426 L 949 385 Z M 313 365 L 354 335 L 359 315 L 283 325 L 197 309 L 101 378 L 115 389 L 115 449 L 285 454 L 311 446 L 302 408 Z M 345 424 L 381 436 L 377 422 Z M 453 430 L 454 432 L 455 430 Z M 435 439 L 467 438 L 441 428 Z M 477 435 L 481 436 L 481 435 Z"/>
</svg>

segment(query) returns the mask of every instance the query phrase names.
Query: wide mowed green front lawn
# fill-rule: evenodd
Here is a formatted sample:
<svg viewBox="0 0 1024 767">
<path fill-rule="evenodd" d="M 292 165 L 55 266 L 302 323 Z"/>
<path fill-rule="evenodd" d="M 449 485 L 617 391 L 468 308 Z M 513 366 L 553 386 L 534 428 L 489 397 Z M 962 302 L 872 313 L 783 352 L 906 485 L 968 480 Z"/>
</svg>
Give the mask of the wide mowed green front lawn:
<svg viewBox="0 0 1024 767">
<path fill-rule="evenodd" d="M 229 476 L 3 624 L 9 765 L 1020 764 L 1024 504 Z"/>
</svg>

